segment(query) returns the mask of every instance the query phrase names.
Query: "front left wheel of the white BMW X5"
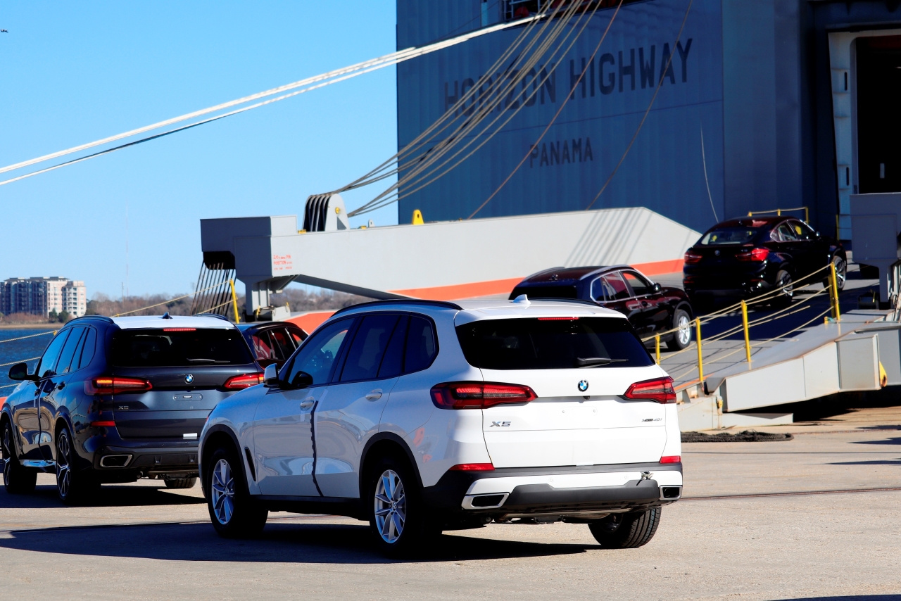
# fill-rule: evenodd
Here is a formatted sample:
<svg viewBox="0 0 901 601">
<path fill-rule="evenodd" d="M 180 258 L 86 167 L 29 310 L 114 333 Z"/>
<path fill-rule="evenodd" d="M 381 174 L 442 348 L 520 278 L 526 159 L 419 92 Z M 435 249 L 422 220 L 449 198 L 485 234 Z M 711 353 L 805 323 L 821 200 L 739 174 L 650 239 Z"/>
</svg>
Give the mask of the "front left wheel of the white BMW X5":
<svg viewBox="0 0 901 601">
<path fill-rule="evenodd" d="M 206 507 L 223 538 L 250 538 L 262 532 L 268 509 L 250 496 L 244 469 L 232 447 L 213 451 L 206 470 Z"/>
</svg>

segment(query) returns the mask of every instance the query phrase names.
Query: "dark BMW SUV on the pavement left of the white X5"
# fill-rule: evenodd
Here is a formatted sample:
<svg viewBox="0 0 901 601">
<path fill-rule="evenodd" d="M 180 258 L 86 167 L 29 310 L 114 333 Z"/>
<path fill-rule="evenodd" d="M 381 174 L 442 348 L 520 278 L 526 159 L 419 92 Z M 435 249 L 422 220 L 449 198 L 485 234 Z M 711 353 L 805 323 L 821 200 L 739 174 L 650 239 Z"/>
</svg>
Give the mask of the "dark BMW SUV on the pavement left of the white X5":
<svg viewBox="0 0 901 601">
<path fill-rule="evenodd" d="M 56 473 L 63 502 L 102 483 L 193 487 L 197 435 L 223 398 L 261 382 L 241 332 L 214 315 L 82 317 L 66 324 L 0 410 L 7 492 Z"/>
</svg>

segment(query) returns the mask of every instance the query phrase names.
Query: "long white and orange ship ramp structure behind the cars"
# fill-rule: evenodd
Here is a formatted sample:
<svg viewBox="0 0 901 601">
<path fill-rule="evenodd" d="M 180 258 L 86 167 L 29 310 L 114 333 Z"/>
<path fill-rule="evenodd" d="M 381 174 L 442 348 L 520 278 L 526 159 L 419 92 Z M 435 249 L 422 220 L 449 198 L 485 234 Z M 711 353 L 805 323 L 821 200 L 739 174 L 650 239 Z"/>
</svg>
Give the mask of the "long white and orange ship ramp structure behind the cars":
<svg viewBox="0 0 901 601">
<path fill-rule="evenodd" d="M 333 196 L 311 197 L 308 207 L 343 213 Z M 700 236 L 643 207 L 366 229 L 339 229 L 331 215 L 324 223 L 324 231 L 301 232 L 296 215 L 203 219 L 205 265 L 234 269 L 246 287 L 245 315 L 279 318 L 267 313 L 269 296 L 291 282 L 370 298 L 500 295 L 555 266 L 678 271 Z"/>
</svg>

